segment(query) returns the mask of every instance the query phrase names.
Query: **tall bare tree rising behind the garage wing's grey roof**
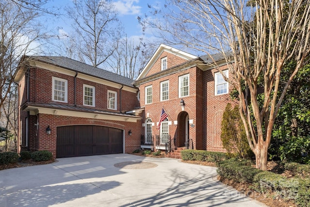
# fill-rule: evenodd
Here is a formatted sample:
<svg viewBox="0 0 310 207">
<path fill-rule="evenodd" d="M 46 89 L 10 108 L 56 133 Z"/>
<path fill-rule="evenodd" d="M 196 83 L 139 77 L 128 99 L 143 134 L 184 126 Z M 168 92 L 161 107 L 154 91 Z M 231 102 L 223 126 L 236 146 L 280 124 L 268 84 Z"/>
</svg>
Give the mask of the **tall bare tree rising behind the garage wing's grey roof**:
<svg viewBox="0 0 310 207">
<path fill-rule="evenodd" d="M 78 44 L 74 49 L 79 61 L 98 67 L 113 54 L 119 39 L 117 11 L 110 0 L 73 0 L 73 4 L 66 11 L 74 20 Z"/>
</svg>

